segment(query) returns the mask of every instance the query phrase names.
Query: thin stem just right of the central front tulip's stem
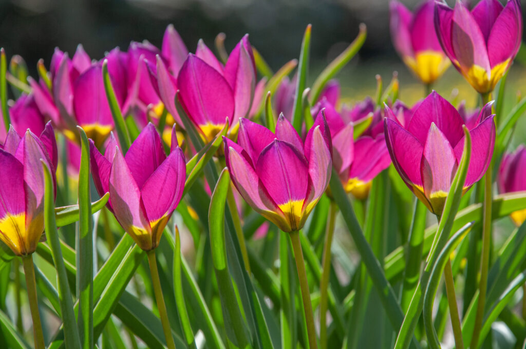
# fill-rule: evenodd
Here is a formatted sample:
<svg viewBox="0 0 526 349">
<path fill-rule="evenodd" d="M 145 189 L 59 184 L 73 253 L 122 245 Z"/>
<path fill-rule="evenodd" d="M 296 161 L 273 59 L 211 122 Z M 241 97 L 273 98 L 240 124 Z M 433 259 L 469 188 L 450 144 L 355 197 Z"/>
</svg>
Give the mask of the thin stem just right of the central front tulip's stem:
<svg viewBox="0 0 526 349">
<path fill-rule="evenodd" d="M 331 200 L 329 206 L 329 217 L 327 219 L 327 230 L 325 231 L 325 244 L 323 245 L 323 260 L 322 272 L 320 282 L 320 346 L 322 349 L 327 348 L 327 291 L 329 287 L 330 276 L 330 248 L 332 245 L 332 235 L 334 234 L 334 225 L 336 220 L 336 213 L 338 207 L 336 203 Z"/>
</svg>

